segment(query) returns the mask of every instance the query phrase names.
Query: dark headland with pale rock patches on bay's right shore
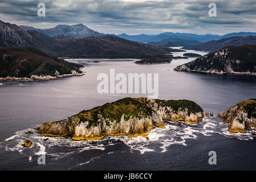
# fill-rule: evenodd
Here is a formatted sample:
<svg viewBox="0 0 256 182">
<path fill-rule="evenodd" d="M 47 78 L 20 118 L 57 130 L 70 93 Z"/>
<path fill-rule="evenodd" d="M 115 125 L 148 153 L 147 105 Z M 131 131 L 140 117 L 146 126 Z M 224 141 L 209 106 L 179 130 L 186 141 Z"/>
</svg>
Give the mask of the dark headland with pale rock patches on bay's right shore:
<svg viewBox="0 0 256 182">
<path fill-rule="evenodd" d="M 174 70 L 256 76 L 256 45 L 226 46 Z"/>
</svg>

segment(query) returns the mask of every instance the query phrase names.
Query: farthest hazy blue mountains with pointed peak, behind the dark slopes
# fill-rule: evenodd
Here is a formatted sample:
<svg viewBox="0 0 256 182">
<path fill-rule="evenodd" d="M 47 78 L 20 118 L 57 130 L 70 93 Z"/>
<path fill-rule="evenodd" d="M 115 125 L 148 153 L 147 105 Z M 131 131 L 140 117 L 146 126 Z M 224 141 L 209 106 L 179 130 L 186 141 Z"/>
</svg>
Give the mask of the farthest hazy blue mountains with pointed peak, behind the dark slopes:
<svg viewBox="0 0 256 182">
<path fill-rule="evenodd" d="M 99 33 L 97 31 L 91 30 L 84 24 L 75 24 L 72 26 L 66 25 L 66 24 L 59 24 L 58 26 L 55 26 L 53 28 L 46 28 L 46 29 L 34 28 L 29 26 L 20 26 L 20 27 L 26 31 L 36 30 L 38 32 L 41 32 L 42 34 L 45 34 L 48 36 L 54 36 L 54 38 L 57 40 L 70 39 L 70 38 L 83 38 L 86 36 L 106 35 L 104 33 Z M 135 42 L 148 43 L 148 44 L 160 46 L 160 47 L 185 46 L 189 48 L 190 46 L 196 46 L 212 40 L 221 40 L 225 38 L 232 38 L 234 36 L 242 36 L 242 37 L 256 36 L 256 32 L 233 32 L 233 33 L 225 34 L 222 36 L 216 35 L 216 34 L 197 35 L 197 34 L 178 33 L 178 32 L 177 33 L 164 32 L 156 35 L 147 35 L 147 34 L 140 34 L 140 35 L 107 34 L 107 35 L 118 36 L 123 39 L 132 40 Z M 251 42 L 246 42 L 246 43 L 251 43 Z M 224 44 L 223 47 L 228 45 L 229 44 Z M 230 44 L 230 45 L 235 45 L 235 44 Z M 205 46 L 205 44 L 203 44 L 202 46 Z M 202 51 L 217 51 L 220 48 L 221 47 L 217 47 L 215 49 L 205 48 L 205 49 L 202 49 Z"/>
</svg>

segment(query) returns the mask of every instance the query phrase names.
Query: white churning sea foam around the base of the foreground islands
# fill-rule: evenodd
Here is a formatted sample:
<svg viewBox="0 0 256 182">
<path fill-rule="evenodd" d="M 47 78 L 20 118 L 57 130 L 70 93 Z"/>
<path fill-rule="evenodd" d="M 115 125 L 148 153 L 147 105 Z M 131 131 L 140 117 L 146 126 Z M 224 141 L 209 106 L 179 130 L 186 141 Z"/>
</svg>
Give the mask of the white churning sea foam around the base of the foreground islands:
<svg viewBox="0 0 256 182">
<path fill-rule="evenodd" d="M 32 135 L 25 134 L 26 131 L 34 131 L 33 129 L 17 131 L 15 135 L 5 139 L 0 143 L 7 151 L 19 151 L 26 155 L 51 155 L 54 160 L 64 158 L 68 155 L 79 154 L 87 150 L 104 151 L 108 146 L 113 146 L 120 140 L 130 148 L 130 152 L 139 151 L 140 154 L 145 152 L 166 152 L 172 144 L 182 144 L 187 146 L 188 139 L 198 139 L 200 135 L 207 137 L 213 134 L 220 134 L 228 138 L 237 138 L 239 140 L 250 140 L 256 136 L 255 129 L 249 130 L 247 133 L 230 133 L 227 125 L 224 125 L 216 117 L 205 117 L 198 123 L 184 122 L 166 122 L 165 129 L 156 127 L 148 134 L 148 139 L 143 137 L 128 138 L 128 135 L 117 137 L 105 136 L 101 140 L 74 141 L 70 137 L 43 137 L 42 134 L 34 133 Z M 29 138 L 32 146 L 24 148 L 21 144 Z M 62 152 L 51 152 L 51 147 L 70 147 L 71 150 Z M 157 146 L 157 147 L 156 147 Z M 30 153 L 28 153 L 30 151 Z"/>
</svg>

